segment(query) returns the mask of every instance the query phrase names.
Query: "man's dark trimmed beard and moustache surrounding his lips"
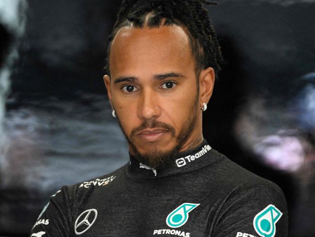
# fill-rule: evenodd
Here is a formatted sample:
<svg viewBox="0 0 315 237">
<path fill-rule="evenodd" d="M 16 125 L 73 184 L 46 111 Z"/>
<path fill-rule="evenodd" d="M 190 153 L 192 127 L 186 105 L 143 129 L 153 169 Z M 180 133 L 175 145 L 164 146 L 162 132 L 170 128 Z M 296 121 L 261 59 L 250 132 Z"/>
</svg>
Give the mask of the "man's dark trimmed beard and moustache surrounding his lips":
<svg viewBox="0 0 315 237">
<path fill-rule="evenodd" d="M 157 120 L 153 120 L 152 122 L 150 122 L 150 120 L 145 120 L 138 128 L 132 130 L 130 134 L 130 138 L 129 138 L 123 129 L 120 119 L 116 115 L 119 126 L 121 130 L 123 131 L 128 144 L 133 148 L 133 151 L 135 152 L 133 156 L 135 157 L 136 160 L 138 160 L 142 164 L 145 164 L 151 168 L 161 169 L 161 168 L 171 166 L 174 160 L 178 158 L 179 150 L 183 147 L 183 145 L 189 139 L 192 131 L 195 128 L 195 124 L 197 121 L 197 110 L 198 110 L 197 102 L 199 98 L 199 86 L 197 86 L 197 88 L 198 90 L 195 97 L 195 102 L 192 109 L 190 110 L 192 111 L 192 113 L 189 113 L 189 118 L 186 120 L 187 122 L 184 124 L 183 129 L 179 132 L 178 135 L 175 135 L 174 128 L 167 123 L 159 122 Z M 155 148 L 151 151 L 140 153 L 133 141 L 134 141 L 135 134 L 146 128 L 151 128 L 151 129 L 161 128 L 161 129 L 167 130 L 175 138 L 176 145 L 170 151 L 160 151 L 158 150 L 158 148 Z"/>
</svg>

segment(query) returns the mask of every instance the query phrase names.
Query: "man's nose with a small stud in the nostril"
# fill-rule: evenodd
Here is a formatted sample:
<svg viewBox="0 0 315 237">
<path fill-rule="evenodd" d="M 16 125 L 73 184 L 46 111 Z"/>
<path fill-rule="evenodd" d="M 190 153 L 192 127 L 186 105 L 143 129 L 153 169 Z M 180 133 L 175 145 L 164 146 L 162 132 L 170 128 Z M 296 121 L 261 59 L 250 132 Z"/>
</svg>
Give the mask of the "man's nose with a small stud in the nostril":
<svg viewBox="0 0 315 237">
<path fill-rule="evenodd" d="M 142 90 L 138 117 L 140 119 L 157 119 L 160 116 L 160 107 L 158 106 L 158 98 L 152 90 Z"/>
</svg>

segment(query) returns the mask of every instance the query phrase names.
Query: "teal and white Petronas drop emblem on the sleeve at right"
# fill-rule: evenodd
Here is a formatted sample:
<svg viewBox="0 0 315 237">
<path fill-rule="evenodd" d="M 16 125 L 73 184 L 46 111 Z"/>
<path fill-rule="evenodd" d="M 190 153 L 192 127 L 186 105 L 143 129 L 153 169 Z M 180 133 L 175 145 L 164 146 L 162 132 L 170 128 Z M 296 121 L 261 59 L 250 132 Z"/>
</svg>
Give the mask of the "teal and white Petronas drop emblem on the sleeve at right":
<svg viewBox="0 0 315 237">
<path fill-rule="evenodd" d="M 262 237 L 274 237 L 276 234 L 276 223 L 281 218 L 282 212 L 274 205 L 268 205 L 259 212 L 253 220 L 255 231 Z"/>
</svg>

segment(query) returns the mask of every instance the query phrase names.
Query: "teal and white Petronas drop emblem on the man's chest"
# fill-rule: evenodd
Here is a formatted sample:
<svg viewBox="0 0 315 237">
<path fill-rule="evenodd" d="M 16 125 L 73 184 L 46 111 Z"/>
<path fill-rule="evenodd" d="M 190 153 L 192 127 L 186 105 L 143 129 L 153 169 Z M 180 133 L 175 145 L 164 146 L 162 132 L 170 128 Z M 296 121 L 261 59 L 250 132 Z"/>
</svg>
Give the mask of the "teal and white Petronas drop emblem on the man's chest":
<svg viewBox="0 0 315 237">
<path fill-rule="evenodd" d="M 186 223 L 188 213 L 196 208 L 200 203 L 183 203 L 173 210 L 166 218 L 166 224 L 171 228 L 177 228 Z"/>
</svg>

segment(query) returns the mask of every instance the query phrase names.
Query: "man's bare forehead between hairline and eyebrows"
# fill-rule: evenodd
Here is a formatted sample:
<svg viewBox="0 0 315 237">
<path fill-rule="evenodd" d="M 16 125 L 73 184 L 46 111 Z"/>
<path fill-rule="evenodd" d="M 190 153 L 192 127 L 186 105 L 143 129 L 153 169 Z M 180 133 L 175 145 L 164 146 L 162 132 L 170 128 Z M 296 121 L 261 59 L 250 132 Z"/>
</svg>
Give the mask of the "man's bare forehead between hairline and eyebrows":
<svg viewBox="0 0 315 237">
<path fill-rule="evenodd" d="M 121 28 L 112 41 L 109 60 L 111 74 L 154 74 L 193 68 L 189 37 L 177 25 Z"/>
</svg>

